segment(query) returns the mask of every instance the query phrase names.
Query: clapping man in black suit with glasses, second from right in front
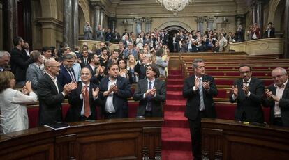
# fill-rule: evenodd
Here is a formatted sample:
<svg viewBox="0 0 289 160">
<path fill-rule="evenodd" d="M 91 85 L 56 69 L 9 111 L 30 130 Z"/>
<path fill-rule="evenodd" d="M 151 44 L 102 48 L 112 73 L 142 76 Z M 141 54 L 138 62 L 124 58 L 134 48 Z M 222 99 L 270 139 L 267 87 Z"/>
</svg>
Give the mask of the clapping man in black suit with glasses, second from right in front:
<svg viewBox="0 0 289 160">
<path fill-rule="evenodd" d="M 240 65 L 241 79 L 234 81 L 230 102 L 237 102 L 235 120 L 248 122 L 264 122 L 262 110 L 262 96 L 264 84 L 260 79 L 252 77 L 249 65 Z"/>
</svg>

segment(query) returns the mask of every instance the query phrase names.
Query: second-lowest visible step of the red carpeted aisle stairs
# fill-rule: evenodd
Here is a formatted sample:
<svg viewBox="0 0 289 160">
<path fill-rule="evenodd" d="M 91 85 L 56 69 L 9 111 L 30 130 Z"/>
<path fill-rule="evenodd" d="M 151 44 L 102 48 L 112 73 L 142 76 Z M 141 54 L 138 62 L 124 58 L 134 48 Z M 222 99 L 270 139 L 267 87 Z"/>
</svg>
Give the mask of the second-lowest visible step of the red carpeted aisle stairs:
<svg viewBox="0 0 289 160">
<path fill-rule="evenodd" d="M 162 127 L 162 150 L 191 150 L 191 134 L 188 128 Z"/>
</svg>

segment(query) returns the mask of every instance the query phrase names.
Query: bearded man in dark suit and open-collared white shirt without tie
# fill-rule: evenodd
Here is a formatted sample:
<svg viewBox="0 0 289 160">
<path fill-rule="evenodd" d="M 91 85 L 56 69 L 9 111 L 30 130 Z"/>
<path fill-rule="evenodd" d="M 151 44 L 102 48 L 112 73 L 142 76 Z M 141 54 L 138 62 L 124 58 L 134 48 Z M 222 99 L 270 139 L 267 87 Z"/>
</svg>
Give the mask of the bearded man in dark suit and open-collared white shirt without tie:
<svg viewBox="0 0 289 160">
<path fill-rule="evenodd" d="M 128 98 L 132 95 L 131 85 L 128 79 L 119 76 L 117 63 L 110 63 L 108 74 L 108 77 L 101 79 L 99 85 L 103 97 L 104 118 L 127 118 Z"/>
</svg>

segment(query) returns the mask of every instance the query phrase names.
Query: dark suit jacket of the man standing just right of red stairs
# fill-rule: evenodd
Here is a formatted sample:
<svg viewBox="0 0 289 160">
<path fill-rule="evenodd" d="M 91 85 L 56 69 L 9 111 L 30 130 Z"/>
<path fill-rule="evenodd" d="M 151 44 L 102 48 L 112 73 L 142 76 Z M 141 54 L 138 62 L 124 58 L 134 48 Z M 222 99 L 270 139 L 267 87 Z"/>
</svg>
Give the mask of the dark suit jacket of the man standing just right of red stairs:
<svg viewBox="0 0 289 160">
<path fill-rule="evenodd" d="M 203 75 L 202 81 L 209 81 L 209 90 L 202 88 L 205 104 L 205 115 L 207 118 L 216 118 L 215 104 L 213 96 L 218 95 L 218 90 L 214 82 L 214 77 L 209 75 Z M 195 74 L 184 80 L 183 96 L 186 100 L 186 111 L 185 116 L 188 119 L 195 120 L 200 111 L 200 95 L 198 90 L 193 90 L 195 86 Z"/>
</svg>

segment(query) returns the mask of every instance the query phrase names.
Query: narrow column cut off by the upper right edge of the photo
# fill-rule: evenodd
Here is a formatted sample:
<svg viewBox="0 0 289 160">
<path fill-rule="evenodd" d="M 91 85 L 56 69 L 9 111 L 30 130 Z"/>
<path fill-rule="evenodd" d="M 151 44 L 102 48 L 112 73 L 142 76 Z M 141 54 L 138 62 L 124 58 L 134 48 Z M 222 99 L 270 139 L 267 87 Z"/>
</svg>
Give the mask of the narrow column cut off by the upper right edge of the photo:
<svg viewBox="0 0 289 160">
<path fill-rule="evenodd" d="M 289 0 L 286 0 L 284 23 L 284 58 L 289 58 Z"/>
</svg>

